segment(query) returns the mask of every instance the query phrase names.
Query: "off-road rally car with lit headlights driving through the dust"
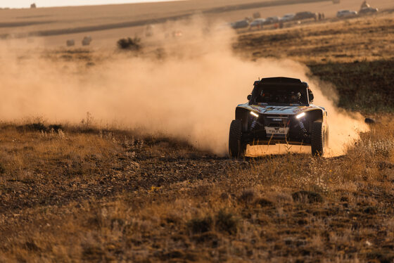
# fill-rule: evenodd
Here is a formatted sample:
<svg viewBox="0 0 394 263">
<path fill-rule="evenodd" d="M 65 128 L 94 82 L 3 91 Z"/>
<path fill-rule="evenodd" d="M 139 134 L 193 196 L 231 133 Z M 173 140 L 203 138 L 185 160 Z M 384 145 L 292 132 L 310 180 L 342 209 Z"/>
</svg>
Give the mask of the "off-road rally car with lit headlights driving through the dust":
<svg viewBox="0 0 394 263">
<path fill-rule="evenodd" d="M 311 146 L 312 155 L 324 155 L 329 143 L 327 112 L 313 105 L 306 82 L 288 77 L 255 81 L 248 103 L 235 110 L 229 132 L 229 155 L 241 158 L 246 146 Z"/>
</svg>

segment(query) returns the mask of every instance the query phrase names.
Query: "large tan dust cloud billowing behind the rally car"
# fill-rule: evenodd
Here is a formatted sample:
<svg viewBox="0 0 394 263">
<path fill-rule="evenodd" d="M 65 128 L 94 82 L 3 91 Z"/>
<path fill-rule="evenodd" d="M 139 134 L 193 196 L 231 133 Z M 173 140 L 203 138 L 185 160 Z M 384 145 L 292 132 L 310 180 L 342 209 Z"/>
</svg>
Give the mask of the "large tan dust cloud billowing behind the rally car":
<svg viewBox="0 0 394 263">
<path fill-rule="evenodd" d="M 174 36 L 174 30 L 182 36 Z M 315 104 L 329 111 L 329 155 L 343 154 L 346 143 L 367 129 L 361 116 L 341 112 L 323 96 L 305 65 L 286 59 L 243 60 L 232 53 L 232 41 L 230 30 L 207 30 L 201 21 L 155 27 L 144 54 L 107 56 L 108 51 L 95 49 L 98 59 L 90 67 L 82 60 L 49 58 L 45 49 L 15 49 L 3 42 L 0 118 L 42 116 L 49 122 L 77 123 L 89 112 L 102 125 L 139 127 L 225 155 L 234 110 L 246 102 L 255 79 L 286 76 L 310 83 Z M 156 58 L 158 47 L 162 58 Z"/>
</svg>

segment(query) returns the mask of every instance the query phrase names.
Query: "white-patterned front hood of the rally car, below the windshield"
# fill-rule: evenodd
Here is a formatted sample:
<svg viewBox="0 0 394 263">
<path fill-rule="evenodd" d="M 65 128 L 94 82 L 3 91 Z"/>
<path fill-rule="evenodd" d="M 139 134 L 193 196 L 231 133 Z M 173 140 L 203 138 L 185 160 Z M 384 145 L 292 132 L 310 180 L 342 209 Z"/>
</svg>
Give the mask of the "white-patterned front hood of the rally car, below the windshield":
<svg viewBox="0 0 394 263">
<path fill-rule="evenodd" d="M 295 115 L 297 113 L 306 112 L 309 110 L 324 110 L 324 108 L 317 105 L 310 104 L 308 106 L 288 105 L 288 106 L 275 106 L 275 105 L 249 105 L 249 103 L 240 104 L 237 108 L 244 108 L 255 113 L 267 115 Z"/>
</svg>

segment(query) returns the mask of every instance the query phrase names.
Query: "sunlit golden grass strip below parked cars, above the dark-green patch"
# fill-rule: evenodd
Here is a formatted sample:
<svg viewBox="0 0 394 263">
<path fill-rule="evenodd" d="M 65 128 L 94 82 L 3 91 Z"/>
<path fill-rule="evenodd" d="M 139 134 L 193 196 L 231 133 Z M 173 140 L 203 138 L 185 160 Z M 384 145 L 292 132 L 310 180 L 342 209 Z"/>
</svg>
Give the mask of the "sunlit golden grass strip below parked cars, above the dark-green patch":
<svg viewBox="0 0 394 263">
<path fill-rule="evenodd" d="M 308 65 L 393 60 L 393 15 L 242 34 L 236 50 L 248 58 L 291 58 Z"/>
</svg>

